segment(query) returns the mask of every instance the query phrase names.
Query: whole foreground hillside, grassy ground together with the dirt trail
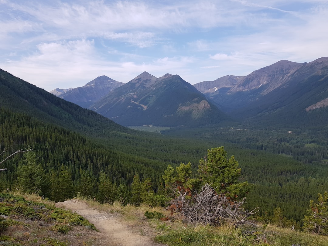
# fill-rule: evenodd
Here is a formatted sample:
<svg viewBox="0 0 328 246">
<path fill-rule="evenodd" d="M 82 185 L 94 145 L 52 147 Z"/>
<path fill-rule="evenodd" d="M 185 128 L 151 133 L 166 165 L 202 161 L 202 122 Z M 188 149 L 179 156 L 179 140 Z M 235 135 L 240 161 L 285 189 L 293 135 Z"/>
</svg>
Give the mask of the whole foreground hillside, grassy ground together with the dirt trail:
<svg viewBox="0 0 328 246">
<path fill-rule="evenodd" d="M 0 194 L 2 216 L 0 243 L 4 245 L 303 245 L 327 246 L 326 236 L 280 228 L 273 224 L 256 227 L 186 227 L 180 220 L 146 219 L 148 206 L 120 206 L 72 199 L 51 203 L 24 194 Z M 56 207 L 55 207 L 56 206 Z M 64 210 L 66 208 L 68 210 Z M 24 213 L 22 213 L 22 211 Z M 152 211 L 167 214 L 159 208 Z M 82 217 L 82 216 L 83 217 Z M 31 219 L 33 218 L 33 220 Z M 88 220 L 89 221 L 88 221 Z M 94 223 L 94 224 L 91 224 Z"/>
</svg>

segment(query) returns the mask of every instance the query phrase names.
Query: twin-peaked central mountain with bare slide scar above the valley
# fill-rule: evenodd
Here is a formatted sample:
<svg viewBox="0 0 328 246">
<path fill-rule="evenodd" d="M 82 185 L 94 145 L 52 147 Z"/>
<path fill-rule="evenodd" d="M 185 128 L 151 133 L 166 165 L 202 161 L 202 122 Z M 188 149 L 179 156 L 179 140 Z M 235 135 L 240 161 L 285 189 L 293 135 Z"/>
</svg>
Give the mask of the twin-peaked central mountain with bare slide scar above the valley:
<svg viewBox="0 0 328 246">
<path fill-rule="evenodd" d="M 124 126 L 201 126 L 225 118 L 179 75 L 156 78 L 147 72 L 108 93 L 90 109 Z"/>
</svg>

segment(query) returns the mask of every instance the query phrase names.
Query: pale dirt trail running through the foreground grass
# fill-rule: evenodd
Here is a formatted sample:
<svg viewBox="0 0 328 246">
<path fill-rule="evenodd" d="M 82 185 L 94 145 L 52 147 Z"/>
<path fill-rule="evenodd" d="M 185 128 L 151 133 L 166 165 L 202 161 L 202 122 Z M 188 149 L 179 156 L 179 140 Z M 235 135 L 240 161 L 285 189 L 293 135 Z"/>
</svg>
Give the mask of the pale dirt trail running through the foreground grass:
<svg viewBox="0 0 328 246">
<path fill-rule="evenodd" d="M 111 246 L 159 246 L 162 244 L 155 243 L 147 236 L 141 236 L 129 230 L 120 220 L 118 214 L 110 214 L 97 211 L 88 207 L 83 200 L 69 200 L 56 203 L 56 207 L 62 207 L 72 210 L 82 215 L 94 224 L 100 231 L 102 239 Z"/>
</svg>

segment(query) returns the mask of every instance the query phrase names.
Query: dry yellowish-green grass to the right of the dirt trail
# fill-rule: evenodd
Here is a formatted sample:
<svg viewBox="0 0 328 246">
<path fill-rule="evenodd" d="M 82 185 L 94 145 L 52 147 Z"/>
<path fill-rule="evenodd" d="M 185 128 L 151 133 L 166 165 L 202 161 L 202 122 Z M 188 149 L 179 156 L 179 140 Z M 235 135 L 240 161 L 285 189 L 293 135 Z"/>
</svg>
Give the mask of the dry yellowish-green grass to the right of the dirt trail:
<svg viewBox="0 0 328 246">
<path fill-rule="evenodd" d="M 328 236 L 293 231 L 271 224 L 240 228 L 228 225 L 221 227 L 187 226 L 179 220 L 168 222 L 159 221 L 158 219 L 146 219 L 146 211 L 156 211 L 168 215 L 168 212 L 163 211 L 162 208 L 121 206 L 118 202 L 112 205 L 99 204 L 94 201 L 89 201 L 89 205 L 101 211 L 120 213 L 127 224 L 139 228 L 136 230 L 141 235 L 152 236 L 156 242 L 172 246 L 328 246 Z"/>
</svg>

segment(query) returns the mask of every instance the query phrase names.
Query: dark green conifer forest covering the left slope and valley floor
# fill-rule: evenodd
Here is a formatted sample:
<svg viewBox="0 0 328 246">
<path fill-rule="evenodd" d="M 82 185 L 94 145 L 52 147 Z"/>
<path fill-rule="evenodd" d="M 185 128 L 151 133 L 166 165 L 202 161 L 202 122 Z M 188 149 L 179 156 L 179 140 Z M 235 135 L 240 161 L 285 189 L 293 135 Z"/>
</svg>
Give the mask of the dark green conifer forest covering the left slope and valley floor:
<svg viewBox="0 0 328 246">
<path fill-rule="evenodd" d="M 275 128 L 222 123 L 148 133 L 64 101 L 0 71 L 0 191 L 22 189 L 53 201 L 77 194 L 100 202 L 165 205 L 168 165 L 191 163 L 224 146 L 251 191 L 245 208 L 258 220 L 301 228 L 311 199 L 328 190 L 324 127 Z M 229 126 L 228 126 L 229 125 Z M 288 133 L 292 132 L 292 133 Z"/>
</svg>

